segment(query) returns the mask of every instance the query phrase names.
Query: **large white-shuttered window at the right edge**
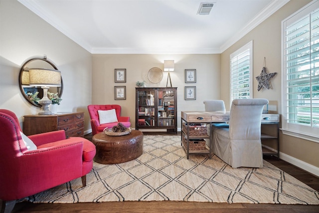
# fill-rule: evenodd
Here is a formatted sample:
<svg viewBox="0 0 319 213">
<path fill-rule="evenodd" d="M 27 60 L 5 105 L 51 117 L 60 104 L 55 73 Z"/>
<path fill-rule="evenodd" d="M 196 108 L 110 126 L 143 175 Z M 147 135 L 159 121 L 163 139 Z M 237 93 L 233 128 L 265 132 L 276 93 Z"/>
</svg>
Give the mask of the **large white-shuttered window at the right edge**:
<svg viewBox="0 0 319 213">
<path fill-rule="evenodd" d="M 319 1 L 282 26 L 283 133 L 319 142 Z"/>
</svg>

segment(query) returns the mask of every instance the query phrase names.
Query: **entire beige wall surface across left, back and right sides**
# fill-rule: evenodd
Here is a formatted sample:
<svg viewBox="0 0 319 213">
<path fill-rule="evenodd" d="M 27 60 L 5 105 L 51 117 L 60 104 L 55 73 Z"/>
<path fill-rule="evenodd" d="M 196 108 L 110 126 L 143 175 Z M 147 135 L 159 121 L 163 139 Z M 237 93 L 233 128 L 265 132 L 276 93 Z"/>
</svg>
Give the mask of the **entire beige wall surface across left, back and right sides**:
<svg viewBox="0 0 319 213">
<path fill-rule="evenodd" d="M 149 82 L 147 74 L 152 67 L 163 69 L 163 61 L 169 59 L 175 60 L 171 80 L 172 86 L 178 88 L 178 121 L 180 111 L 204 110 L 205 99 L 221 98 L 229 109 L 229 55 L 253 40 L 253 96 L 269 99 L 270 112 L 281 114 L 281 20 L 308 2 L 310 0 L 291 0 L 222 54 L 91 55 L 18 1 L 0 0 L 0 108 L 14 111 L 21 124 L 23 115 L 39 111 L 21 95 L 18 74 L 26 59 L 46 54 L 61 70 L 64 81 L 59 111 L 84 111 L 85 130 L 91 129 L 87 113 L 87 105 L 91 103 L 120 104 L 122 115 L 130 116 L 135 127 L 135 82 L 145 80 L 147 86 L 165 87 L 166 72 L 158 84 Z M 255 77 L 261 72 L 264 57 L 267 71 L 277 75 L 271 80 L 272 89 L 257 91 Z M 115 68 L 127 69 L 126 83 L 114 83 Z M 197 70 L 196 83 L 184 83 L 184 69 Z M 117 85 L 127 87 L 126 100 L 114 100 Z M 196 86 L 196 100 L 184 100 L 184 86 Z M 281 152 L 285 155 L 319 167 L 318 143 L 282 134 L 280 138 Z"/>
</svg>

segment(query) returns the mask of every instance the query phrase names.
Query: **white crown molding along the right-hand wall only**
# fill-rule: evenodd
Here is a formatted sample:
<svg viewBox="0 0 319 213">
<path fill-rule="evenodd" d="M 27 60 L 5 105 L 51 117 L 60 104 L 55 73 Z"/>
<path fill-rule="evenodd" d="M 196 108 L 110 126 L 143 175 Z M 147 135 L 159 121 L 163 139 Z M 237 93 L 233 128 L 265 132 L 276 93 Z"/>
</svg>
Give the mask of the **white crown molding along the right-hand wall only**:
<svg viewBox="0 0 319 213">
<path fill-rule="evenodd" d="M 244 37 L 248 32 L 250 32 L 256 26 L 258 26 L 261 22 L 266 20 L 269 16 L 274 14 L 278 9 L 280 9 L 289 1 L 290 0 L 273 0 L 272 2 L 270 2 L 259 14 L 257 14 L 251 21 L 249 21 L 242 30 L 240 30 L 238 33 L 232 36 L 229 40 L 227 40 L 226 43 L 221 45 L 220 53 L 222 53 L 231 45 L 236 43 L 239 39 Z"/>
</svg>

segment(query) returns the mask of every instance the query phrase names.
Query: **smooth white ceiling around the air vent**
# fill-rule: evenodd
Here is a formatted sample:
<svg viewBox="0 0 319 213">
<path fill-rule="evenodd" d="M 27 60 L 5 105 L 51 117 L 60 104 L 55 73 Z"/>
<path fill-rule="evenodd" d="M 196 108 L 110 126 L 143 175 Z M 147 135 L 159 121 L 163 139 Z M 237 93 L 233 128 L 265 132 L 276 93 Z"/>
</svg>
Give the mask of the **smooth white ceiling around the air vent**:
<svg viewBox="0 0 319 213">
<path fill-rule="evenodd" d="M 289 0 L 18 0 L 91 53 L 221 53 Z M 201 2 L 214 2 L 198 15 Z"/>
</svg>

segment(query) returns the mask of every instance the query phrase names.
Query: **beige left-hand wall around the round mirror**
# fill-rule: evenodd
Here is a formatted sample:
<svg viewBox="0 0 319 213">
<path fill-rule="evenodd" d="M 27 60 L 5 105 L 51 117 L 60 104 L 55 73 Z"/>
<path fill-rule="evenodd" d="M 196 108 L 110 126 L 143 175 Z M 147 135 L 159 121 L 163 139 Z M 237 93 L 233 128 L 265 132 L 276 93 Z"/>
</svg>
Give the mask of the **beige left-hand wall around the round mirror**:
<svg viewBox="0 0 319 213">
<path fill-rule="evenodd" d="M 91 54 L 16 0 L 0 0 L 0 108 L 23 115 L 40 108 L 28 103 L 18 86 L 22 64 L 32 56 L 47 55 L 64 82 L 59 111 L 84 111 L 91 103 Z M 90 129 L 86 122 L 85 129 Z"/>
</svg>

